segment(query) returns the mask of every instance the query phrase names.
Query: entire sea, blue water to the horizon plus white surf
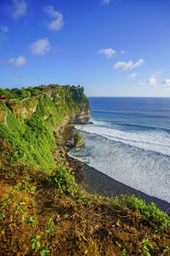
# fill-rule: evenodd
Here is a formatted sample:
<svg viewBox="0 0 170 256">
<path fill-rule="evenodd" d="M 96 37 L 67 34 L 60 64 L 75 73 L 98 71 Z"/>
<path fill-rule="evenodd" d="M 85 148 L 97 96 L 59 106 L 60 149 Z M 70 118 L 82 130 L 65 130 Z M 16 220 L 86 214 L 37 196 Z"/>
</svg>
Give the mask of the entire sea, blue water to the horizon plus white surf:
<svg viewBox="0 0 170 256">
<path fill-rule="evenodd" d="M 93 124 L 71 157 L 170 203 L 170 98 L 89 97 Z"/>
</svg>

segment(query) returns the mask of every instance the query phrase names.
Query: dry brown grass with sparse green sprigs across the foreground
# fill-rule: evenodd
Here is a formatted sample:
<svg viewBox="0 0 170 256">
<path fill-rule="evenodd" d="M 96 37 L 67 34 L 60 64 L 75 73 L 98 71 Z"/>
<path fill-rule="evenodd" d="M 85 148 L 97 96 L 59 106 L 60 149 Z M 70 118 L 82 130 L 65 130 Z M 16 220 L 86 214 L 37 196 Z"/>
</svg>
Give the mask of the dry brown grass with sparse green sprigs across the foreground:
<svg viewBox="0 0 170 256">
<path fill-rule="evenodd" d="M 143 255 L 170 255 L 166 227 L 159 233 L 109 198 L 80 189 L 65 195 L 47 174 L 0 159 L 0 255 L 140 255 L 147 239 L 152 246 Z"/>
</svg>

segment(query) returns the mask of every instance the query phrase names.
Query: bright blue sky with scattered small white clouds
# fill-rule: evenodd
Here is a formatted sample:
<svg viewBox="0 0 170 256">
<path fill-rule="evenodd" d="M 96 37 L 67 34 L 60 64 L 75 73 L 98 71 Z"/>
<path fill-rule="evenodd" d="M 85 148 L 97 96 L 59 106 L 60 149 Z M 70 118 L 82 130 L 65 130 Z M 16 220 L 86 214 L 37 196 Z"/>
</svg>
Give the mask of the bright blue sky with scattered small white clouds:
<svg viewBox="0 0 170 256">
<path fill-rule="evenodd" d="M 169 0 L 0 0 L 0 87 L 170 96 Z"/>
</svg>

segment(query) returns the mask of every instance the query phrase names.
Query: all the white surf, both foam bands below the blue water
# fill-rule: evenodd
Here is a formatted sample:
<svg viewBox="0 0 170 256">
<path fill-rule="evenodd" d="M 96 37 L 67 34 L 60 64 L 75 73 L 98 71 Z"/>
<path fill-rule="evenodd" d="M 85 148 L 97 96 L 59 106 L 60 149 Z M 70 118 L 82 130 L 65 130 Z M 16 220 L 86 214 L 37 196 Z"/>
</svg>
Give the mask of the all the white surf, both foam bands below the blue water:
<svg viewBox="0 0 170 256">
<path fill-rule="evenodd" d="M 118 126 L 93 122 L 94 125 L 76 126 L 86 144 L 73 149 L 70 155 L 118 182 L 170 202 L 169 133 L 121 131 Z"/>
</svg>

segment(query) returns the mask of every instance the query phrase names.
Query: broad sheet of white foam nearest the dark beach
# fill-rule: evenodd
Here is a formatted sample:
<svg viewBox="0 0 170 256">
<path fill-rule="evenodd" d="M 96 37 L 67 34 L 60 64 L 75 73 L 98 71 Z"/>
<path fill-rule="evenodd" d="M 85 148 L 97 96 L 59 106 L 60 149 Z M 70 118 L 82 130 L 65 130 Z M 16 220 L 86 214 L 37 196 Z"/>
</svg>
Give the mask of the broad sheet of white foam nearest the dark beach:
<svg viewBox="0 0 170 256">
<path fill-rule="evenodd" d="M 83 134 L 86 145 L 69 154 L 116 181 L 170 202 L 170 158 L 104 137 Z"/>
</svg>

